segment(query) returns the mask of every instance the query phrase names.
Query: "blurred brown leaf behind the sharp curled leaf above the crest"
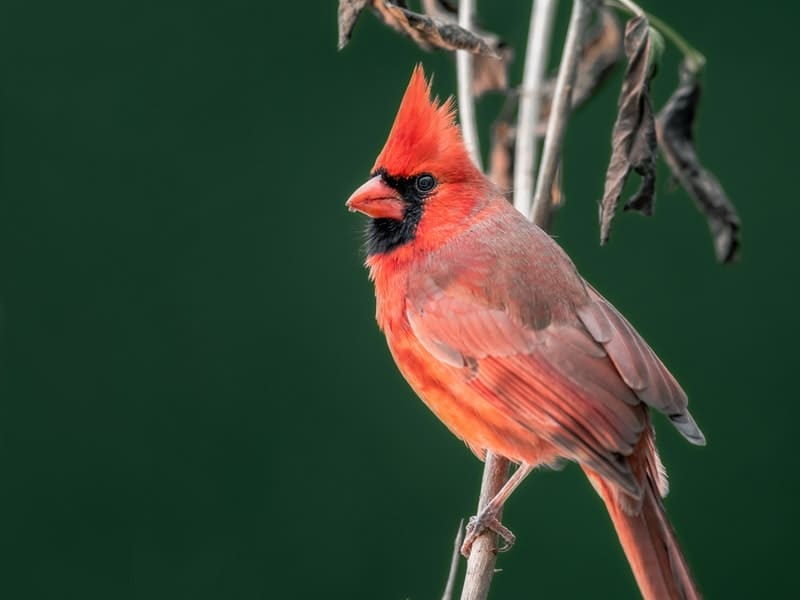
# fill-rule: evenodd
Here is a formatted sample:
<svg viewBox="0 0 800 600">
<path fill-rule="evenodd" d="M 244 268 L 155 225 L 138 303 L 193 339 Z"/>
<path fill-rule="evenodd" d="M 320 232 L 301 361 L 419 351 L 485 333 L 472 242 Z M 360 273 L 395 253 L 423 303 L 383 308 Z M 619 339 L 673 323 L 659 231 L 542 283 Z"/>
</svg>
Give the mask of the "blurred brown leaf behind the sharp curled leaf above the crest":
<svg viewBox="0 0 800 600">
<path fill-rule="evenodd" d="M 447 23 L 457 23 L 456 8 L 445 0 L 422 0 L 425 14 Z M 480 36 L 496 56 L 478 54 L 472 63 L 472 93 L 481 96 L 493 90 L 508 88 L 508 64 L 514 56 L 511 48 L 497 35 L 478 28 L 472 32 Z"/>
</svg>

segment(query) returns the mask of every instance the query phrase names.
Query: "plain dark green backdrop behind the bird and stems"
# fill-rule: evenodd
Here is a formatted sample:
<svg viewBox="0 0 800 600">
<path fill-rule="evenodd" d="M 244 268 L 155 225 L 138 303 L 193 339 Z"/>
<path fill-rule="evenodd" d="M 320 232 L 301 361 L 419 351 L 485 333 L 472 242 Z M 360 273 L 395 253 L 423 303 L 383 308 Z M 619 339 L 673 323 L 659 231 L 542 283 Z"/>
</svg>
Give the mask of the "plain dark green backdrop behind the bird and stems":
<svg viewBox="0 0 800 600">
<path fill-rule="evenodd" d="M 519 81 L 528 3 L 480 5 Z M 570 123 L 554 233 L 690 393 L 707 448 L 657 425 L 706 595 L 786 597 L 797 11 L 650 8 L 708 57 L 699 148 L 740 211 L 741 260 L 715 264 L 663 165 L 656 216 L 619 215 L 598 247 L 619 72 Z M 371 14 L 335 48 L 335 2 L 0 6 L 2 597 L 441 594 L 482 465 L 396 372 L 343 204 L 412 65 L 441 95 L 454 69 Z M 500 104 L 478 107 L 484 146 Z M 531 477 L 505 522 L 519 541 L 494 598 L 636 597 L 574 466 Z"/>
</svg>

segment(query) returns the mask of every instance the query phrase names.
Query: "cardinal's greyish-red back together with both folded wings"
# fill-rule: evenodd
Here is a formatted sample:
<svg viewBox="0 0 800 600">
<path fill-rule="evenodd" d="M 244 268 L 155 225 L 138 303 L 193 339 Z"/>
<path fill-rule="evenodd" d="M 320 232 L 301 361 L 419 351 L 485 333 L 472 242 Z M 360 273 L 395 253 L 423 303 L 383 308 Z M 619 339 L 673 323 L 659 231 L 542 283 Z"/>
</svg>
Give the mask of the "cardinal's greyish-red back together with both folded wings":
<svg viewBox="0 0 800 600">
<path fill-rule="evenodd" d="M 705 442 L 647 343 L 515 211 L 429 254 L 409 275 L 405 315 L 420 344 L 515 427 L 635 498 L 642 485 L 626 457 L 649 428 L 647 406 Z"/>
</svg>

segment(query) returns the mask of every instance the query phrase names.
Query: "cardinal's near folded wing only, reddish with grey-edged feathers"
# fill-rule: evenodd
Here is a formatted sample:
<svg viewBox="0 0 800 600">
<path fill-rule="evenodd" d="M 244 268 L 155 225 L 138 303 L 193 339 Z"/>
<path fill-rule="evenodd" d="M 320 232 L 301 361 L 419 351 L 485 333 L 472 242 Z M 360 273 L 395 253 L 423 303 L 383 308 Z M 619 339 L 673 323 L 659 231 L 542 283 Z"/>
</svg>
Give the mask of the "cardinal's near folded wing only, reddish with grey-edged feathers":
<svg viewBox="0 0 800 600">
<path fill-rule="evenodd" d="M 639 494 L 623 457 L 646 415 L 585 329 L 551 322 L 535 330 L 459 287 L 428 281 L 418 289 L 428 293 L 407 301 L 406 316 L 423 347 L 462 369 L 467 385 L 509 419 Z"/>
</svg>

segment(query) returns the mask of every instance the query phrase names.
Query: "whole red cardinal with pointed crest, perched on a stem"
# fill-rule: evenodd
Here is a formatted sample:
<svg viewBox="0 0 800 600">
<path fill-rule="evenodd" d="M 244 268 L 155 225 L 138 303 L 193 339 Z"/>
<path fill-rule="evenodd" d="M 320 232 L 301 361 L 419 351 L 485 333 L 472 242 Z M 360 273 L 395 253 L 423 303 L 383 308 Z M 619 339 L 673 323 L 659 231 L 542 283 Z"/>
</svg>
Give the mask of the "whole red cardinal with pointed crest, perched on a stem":
<svg viewBox="0 0 800 600">
<path fill-rule="evenodd" d="M 519 468 L 476 517 L 492 529 L 533 468 L 578 463 L 603 498 L 647 599 L 699 598 L 664 512 L 650 408 L 705 438 L 675 378 L 564 251 L 472 163 L 421 67 L 371 179 L 347 201 L 370 217 L 377 320 L 403 376 L 472 451 Z M 465 544 L 469 551 L 469 543 Z"/>
</svg>

